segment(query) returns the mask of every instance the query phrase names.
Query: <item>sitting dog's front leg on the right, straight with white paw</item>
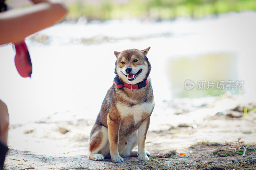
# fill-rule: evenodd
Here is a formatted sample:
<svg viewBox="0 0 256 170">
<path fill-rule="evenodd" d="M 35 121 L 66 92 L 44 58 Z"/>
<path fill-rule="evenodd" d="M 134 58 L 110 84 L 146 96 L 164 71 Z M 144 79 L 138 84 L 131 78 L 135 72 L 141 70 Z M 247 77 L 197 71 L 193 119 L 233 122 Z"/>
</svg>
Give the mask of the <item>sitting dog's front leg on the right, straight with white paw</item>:
<svg viewBox="0 0 256 170">
<path fill-rule="evenodd" d="M 150 117 L 141 122 L 141 125 L 138 129 L 138 158 L 139 160 L 149 160 L 145 152 L 145 140 L 148 132 Z"/>
</svg>

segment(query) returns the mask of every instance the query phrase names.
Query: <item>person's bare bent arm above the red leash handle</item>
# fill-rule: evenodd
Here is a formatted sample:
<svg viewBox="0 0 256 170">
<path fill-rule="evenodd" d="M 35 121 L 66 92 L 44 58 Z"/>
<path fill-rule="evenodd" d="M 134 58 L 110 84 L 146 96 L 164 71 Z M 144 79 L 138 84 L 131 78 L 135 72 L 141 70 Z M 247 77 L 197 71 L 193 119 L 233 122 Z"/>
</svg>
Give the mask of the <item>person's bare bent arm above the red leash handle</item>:
<svg viewBox="0 0 256 170">
<path fill-rule="evenodd" d="M 19 42 L 59 21 L 67 9 L 58 2 L 32 0 L 28 8 L 14 9 L 0 13 L 0 45 Z"/>
</svg>

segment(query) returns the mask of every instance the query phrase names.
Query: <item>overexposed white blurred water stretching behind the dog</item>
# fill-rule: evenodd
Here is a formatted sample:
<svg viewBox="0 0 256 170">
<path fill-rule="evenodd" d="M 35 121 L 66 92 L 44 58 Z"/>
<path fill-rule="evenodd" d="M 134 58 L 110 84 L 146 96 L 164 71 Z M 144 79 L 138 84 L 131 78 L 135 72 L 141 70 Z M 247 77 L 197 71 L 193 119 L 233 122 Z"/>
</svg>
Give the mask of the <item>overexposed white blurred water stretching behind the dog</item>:
<svg viewBox="0 0 256 170">
<path fill-rule="evenodd" d="M 31 79 L 21 78 L 17 73 L 12 47 L 0 48 L 0 98 L 9 107 L 11 123 L 24 123 L 67 111 L 76 118 L 95 119 L 115 76 L 113 51 L 149 46 L 156 106 L 182 93 L 177 86 L 184 88 L 185 79 L 190 78 L 184 76 L 186 71 L 190 79 L 196 78 L 190 73 L 191 67 L 186 70 L 179 62 L 175 63 L 183 57 L 188 61 L 205 56 L 205 63 L 209 61 L 210 65 L 212 58 L 216 58 L 213 65 L 224 65 L 214 78 L 244 80 L 243 92 L 253 96 L 256 85 L 255 20 L 255 12 L 243 12 L 222 14 L 219 18 L 180 18 L 159 23 L 136 20 L 87 25 L 61 23 L 39 32 L 49 36 L 46 45 L 26 40 L 33 64 Z M 82 43 L 82 38 L 93 37 L 107 37 L 110 41 Z M 207 55 L 212 57 L 207 58 Z M 173 64 L 177 64 L 177 70 L 174 69 L 177 74 L 170 73 Z M 216 69 L 211 71 L 213 68 L 203 67 L 201 73 L 205 80 L 212 80 L 204 72 L 214 73 Z M 218 77 L 220 74 L 225 76 Z"/>
</svg>

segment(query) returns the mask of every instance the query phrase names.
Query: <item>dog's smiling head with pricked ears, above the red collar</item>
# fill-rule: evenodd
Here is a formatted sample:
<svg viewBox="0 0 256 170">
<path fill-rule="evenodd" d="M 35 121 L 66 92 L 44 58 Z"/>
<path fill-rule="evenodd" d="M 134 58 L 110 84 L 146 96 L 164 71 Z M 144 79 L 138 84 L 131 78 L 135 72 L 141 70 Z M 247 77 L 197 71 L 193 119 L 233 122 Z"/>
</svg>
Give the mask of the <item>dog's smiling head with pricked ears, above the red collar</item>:
<svg viewBox="0 0 256 170">
<path fill-rule="evenodd" d="M 127 49 L 122 52 L 114 51 L 116 55 L 115 73 L 120 80 L 127 84 L 137 84 L 145 80 L 151 70 L 147 53 L 150 47 L 144 50 Z"/>
</svg>

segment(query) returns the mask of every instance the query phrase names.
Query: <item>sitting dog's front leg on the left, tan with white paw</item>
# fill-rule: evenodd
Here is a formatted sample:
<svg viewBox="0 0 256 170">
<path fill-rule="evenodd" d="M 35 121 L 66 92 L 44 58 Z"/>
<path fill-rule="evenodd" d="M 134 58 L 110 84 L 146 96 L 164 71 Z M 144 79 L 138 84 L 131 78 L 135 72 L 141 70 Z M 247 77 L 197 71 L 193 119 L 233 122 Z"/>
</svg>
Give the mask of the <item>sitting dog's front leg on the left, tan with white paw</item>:
<svg viewBox="0 0 256 170">
<path fill-rule="evenodd" d="M 119 155 L 118 142 L 119 142 L 119 128 L 120 123 L 111 120 L 108 115 L 108 137 L 109 137 L 109 150 L 112 162 L 123 162 L 124 159 Z"/>
</svg>

